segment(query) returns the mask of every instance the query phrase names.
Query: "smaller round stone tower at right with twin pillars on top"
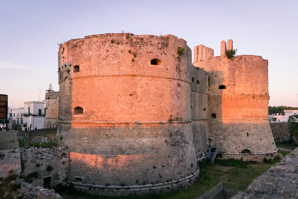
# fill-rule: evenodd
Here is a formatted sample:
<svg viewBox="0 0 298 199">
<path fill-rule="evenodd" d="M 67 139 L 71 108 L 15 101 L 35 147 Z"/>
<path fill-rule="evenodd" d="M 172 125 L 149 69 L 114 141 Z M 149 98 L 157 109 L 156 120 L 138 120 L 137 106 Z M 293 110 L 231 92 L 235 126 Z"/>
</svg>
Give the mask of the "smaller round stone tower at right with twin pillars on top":
<svg viewBox="0 0 298 199">
<path fill-rule="evenodd" d="M 272 158 L 277 149 L 268 119 L 268 60 L 252 55 L 228 59 L 224 50 L 222 41 L 220 57 L 194 63 L 209 72 L 210 145 L 225 158 Z"/>
</svg>

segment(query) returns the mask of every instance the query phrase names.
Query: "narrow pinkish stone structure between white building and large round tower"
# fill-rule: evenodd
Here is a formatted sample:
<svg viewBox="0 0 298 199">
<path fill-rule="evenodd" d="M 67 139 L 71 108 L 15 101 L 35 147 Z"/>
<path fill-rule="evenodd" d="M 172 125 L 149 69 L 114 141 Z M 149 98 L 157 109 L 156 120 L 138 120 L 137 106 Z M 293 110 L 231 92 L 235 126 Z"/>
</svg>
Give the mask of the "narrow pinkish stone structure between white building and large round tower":
<svg viewBox="0 0 298 199">
<path fill-rule="evenodd" d="M 57 125 L 59 112 L 59 92 L 46 93 L 46 118 L 44 128 Z"/>
</svg>

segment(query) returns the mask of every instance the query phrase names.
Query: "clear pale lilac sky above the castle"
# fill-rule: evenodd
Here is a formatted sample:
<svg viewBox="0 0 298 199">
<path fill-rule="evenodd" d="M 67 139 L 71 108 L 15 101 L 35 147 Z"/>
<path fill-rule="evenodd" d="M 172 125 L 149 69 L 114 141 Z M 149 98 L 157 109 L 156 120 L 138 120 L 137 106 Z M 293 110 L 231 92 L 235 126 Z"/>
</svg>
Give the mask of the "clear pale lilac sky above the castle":
<svg viewBox="0 0 298 199">
<path fill-rule="evenodd" d="M 269 105 L 298 107 L 298 0 L 0 0 L 0 94 L 8 106 L 58 85 L 58 43 L 86 35 L 172 34 L 192 49 L 269 61 Z"/>
</svg>

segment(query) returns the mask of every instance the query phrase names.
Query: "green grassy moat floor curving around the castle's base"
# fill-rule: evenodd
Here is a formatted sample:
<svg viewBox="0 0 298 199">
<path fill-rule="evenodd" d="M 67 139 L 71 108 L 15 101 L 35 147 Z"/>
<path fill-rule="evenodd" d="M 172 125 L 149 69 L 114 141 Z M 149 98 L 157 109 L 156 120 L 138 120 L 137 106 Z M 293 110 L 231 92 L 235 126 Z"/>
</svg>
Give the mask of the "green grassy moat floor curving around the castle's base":
<svg viewBox="0 0 298 199">
<path fill-rule="evenodd" d="M 286 145 L 291 147 L 290 145 Z M 282 146 L 281 146 L 282 147 Z M 294 146 L 292 146 L 293 148 Z M 286 148 L 283 145 L 283 148 Z M 297 146 L 295 147 L 297 148 Z M 290 152 L 279 151 L 279 154 L 286 156 Z M 163 195 L 145 195 L 145 196 L 130 196 L 130 197 L 102 197 L 92 196 L 84 193 L 69 190 L 67 194 L 56 190 L 64 199 L 199 199 L 200 196 L 219 184 L 221 181 L 249 185 L 253 179 L 267 172 L 267 170 L 280 162 L 279 159 L 272 161 L 257 162 L 242 162 L 240 160 L 220 160 L 217 159 L 214 165 L 200 165 L 200 179 L 185 190 L 167 193 Z"/>
</svg>

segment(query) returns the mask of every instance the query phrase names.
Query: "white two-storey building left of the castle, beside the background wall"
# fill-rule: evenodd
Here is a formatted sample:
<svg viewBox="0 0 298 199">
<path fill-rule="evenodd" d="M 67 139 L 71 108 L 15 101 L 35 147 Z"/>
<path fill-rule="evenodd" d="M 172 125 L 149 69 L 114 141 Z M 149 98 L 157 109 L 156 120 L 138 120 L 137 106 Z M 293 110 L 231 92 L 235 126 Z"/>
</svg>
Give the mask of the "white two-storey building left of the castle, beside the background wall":
<svg viewBox="0 0 298 199">
<path fill-rule="evenodd" d="M 45 101 L 26 101 L 24 102 L 24 123 L 27 128 L 33 130 L 44 127 L 46 115 Z"/>
</svg>

